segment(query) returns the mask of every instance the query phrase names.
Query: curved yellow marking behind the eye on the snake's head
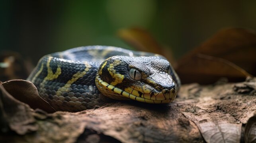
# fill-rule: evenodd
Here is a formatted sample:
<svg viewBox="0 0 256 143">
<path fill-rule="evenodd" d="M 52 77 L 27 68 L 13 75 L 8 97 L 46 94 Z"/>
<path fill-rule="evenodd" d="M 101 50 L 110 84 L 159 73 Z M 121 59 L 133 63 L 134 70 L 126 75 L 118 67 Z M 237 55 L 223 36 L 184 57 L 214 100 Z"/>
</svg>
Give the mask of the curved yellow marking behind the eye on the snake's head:
<svg viewBox="0 0 256 143">
<path fill-rule="evenodd" d="M 115 60 L 113 63 L 109 64 L 109 67 L 107 68 L 109 74 L 111 77 L 115 79 L 115 81 L 111 82 L 110 85 L 117 85 L 118 83 L 122 83 L 124 75 L 121 75 L 119 73 L 116 73 L 114 67 L 120 64 L 120 60 Z"/>
</svg>

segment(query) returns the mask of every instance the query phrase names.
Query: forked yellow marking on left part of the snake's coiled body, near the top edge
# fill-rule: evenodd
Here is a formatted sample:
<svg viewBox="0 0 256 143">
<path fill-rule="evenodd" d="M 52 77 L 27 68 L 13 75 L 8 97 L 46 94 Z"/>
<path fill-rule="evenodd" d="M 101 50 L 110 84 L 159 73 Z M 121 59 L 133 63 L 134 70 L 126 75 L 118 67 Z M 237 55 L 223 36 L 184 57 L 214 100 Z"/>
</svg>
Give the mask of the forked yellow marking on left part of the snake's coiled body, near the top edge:
<svg viewBox="0 0 256 143">
<path fill-rule="evenodd" d="M 46 67 L 47 67 L 47 76 L 44 78 L 44 81 L 51 81 L 53 79 L 57 79 L 58 76 L 61 74 L 61 66 L 58 65 L 57 70 L 55 73 L 53 73 L 53 70 L 50 67 L 50 62 L 53 59 L 52 56 L 48 57 L 47 63 L 46 63 Z"/>
</svg>

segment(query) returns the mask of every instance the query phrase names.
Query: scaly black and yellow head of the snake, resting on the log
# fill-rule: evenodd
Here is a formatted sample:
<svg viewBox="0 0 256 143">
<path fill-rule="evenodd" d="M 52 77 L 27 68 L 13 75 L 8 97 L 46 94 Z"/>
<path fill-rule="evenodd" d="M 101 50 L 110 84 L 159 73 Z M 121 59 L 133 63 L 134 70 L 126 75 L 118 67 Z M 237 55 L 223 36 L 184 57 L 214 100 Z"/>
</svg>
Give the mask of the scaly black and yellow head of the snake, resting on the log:
<svg viewBox="0 0 256 143">
<path fill-rule="evenodd" d="M 96 75 L 96 86 L 112 99 L 147 103 L 172 102 L 178 91 L 178 76 L 162 56 L 113 56 Z"/>
</svg>

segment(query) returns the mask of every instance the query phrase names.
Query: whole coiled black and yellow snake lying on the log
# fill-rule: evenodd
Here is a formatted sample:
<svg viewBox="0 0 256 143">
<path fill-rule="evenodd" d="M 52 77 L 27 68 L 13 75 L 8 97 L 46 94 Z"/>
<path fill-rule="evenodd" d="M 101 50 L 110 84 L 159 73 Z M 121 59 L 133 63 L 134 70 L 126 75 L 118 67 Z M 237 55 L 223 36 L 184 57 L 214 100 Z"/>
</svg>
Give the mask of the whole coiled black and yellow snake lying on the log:
<svg viewBox="0 0 256 143">
<path fill-rule="evenodd" d="M 55 110 L 78 112 L 106 99 L 167 104 L 181 82 L 159 54 L 114 46 L 82 46 L 43 56 L 28 81 Z"/>
</svg>

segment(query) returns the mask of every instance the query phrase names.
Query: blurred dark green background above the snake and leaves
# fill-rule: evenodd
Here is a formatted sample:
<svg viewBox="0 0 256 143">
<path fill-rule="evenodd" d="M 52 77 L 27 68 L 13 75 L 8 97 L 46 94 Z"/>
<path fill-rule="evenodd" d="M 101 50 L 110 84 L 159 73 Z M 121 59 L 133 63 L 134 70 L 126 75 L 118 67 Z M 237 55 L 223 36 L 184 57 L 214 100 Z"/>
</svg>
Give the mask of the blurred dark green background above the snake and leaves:
<svg viewBox="0 0 256 143">
<path fill-rule="evenodd" d="M 119 29 L 141 27 L 179 58 L 225 27 L 256 29 L 256 0 L 6 0 L 1 2 L 0 50 L 35 64 L 45 54 L 77 46 L 133 48 Z"/>
</svg>

